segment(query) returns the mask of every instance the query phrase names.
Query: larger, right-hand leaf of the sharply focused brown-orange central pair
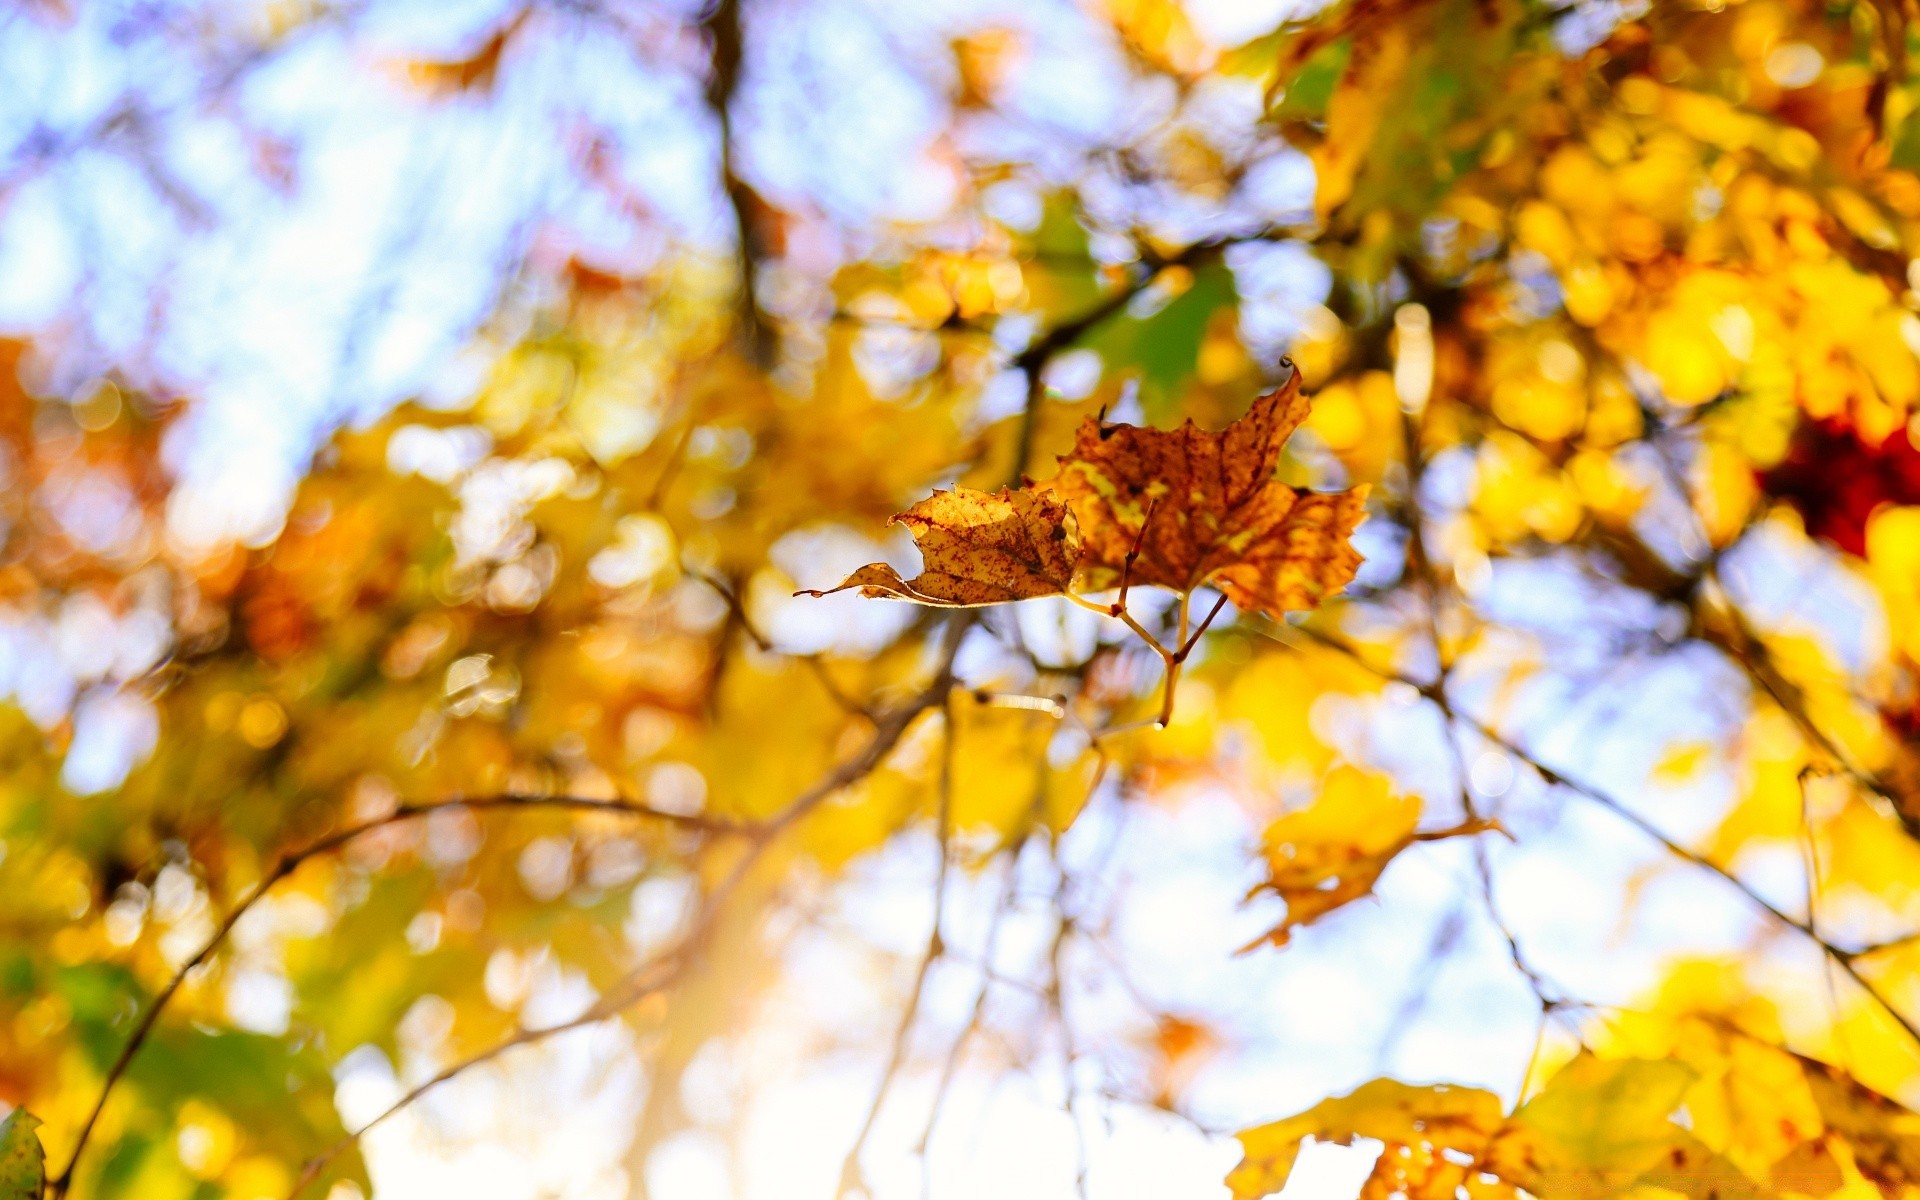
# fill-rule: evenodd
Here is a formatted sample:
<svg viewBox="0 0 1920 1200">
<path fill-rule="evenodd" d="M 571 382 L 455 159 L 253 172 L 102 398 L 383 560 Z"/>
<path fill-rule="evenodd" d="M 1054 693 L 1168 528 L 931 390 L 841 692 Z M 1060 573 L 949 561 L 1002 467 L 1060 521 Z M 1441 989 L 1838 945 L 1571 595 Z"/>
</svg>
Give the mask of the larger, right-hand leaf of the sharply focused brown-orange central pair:
<svg viewBox="0 0 1920 1200">
<path fill-rule="evenodd" d="M 1359 568 L 1348 540 L 1367 490 L 1313 493 L 1273 478 L 1306 415 L 1296 371 L 1217 432 L 1087 420 L 1052 480 L 1079 520 L 1081 566 L 1112 576 L 1100 582 L 1213 584 L 1275 618 L 1319 605 Z"/>
</svg>

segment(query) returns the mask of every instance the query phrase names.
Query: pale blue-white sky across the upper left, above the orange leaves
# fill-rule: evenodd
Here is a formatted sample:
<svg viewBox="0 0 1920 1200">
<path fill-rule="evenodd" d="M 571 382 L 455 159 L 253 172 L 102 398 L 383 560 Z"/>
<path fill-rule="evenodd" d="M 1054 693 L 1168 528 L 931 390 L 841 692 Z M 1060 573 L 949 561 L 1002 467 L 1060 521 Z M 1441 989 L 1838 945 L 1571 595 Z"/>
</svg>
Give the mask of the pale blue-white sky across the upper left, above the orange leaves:
<svg viewBox="0 0 1920 1200">
<path fill-rule="evenodd" d="M 488 94 L 407 83 L 407 63 L 470 56 L 515 8 L 0 13 L 0 330 L 60 330 L 50 392 L 117 371 L 194 397 L 175 449 L 182 536 L 269 538 L 326 430 L 459 396 L 524 265 L 582 253 L 637 269 L 670 246 L 728 246 L 684 4 L 541 13 Z M 1194 6 L 1221 44 L 1283 12 Z M 1060 0 L 756 6 L 743 156 L 768 196 L 824 217 L 820 265 L 870 230 L 947 215 L 947 42 L 1002 23 L 1023 29 L 1031 63 L 1006 117 L 972 136 L 1071 171 L 1165 106 Z M 584 179 L 589 146 L 611 150 L 609 186 Z"/>
</svg>

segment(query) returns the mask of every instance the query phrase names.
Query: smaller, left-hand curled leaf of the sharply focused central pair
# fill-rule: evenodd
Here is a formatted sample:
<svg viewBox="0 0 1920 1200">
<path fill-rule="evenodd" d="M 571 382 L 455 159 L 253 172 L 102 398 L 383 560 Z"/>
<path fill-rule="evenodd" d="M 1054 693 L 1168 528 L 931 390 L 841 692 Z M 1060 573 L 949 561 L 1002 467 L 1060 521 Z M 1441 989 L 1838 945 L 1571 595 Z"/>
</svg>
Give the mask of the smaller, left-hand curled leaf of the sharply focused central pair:
<svg viewBox="0 0 1920 1200">
<path fill-rule="evenodd" d="M 914 534 L 925 570 L 902 580 L 885 563 L 868 563 L 839 588 L 795 595 L 860 595 L 922 605 L 975 607 L 1060 595 L 1073 584 L 1079 540 L 1068 507 L 1048 488 L 935 492 L 893 518 Z"/>
</svg>

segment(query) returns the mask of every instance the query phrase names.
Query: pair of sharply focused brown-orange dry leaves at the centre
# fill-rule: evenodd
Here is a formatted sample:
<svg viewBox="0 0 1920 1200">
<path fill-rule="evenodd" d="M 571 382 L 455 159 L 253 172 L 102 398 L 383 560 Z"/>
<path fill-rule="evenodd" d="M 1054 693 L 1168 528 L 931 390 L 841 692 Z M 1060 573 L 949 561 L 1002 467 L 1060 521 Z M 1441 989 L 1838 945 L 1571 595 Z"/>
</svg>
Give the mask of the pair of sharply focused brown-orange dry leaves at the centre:
<svg viewBox="0 0 1920 1200">
<path fill-rule="evenodd" d="M 925 561 L 918 578 L 874 563 L 808 595 L 860 588 L 972 607 L 1116 584 L 1217 586 L 1248 612 L 1311 609 L 1359 568 L 1348 538 L 1367 490 L 1313 493 L 1273 478 L 1306 415 L 1294 372 L 1221 432 L 1089 419 L 1056 478 L 998 495 L 935 492 L 900 513 Z"/>
</svg>

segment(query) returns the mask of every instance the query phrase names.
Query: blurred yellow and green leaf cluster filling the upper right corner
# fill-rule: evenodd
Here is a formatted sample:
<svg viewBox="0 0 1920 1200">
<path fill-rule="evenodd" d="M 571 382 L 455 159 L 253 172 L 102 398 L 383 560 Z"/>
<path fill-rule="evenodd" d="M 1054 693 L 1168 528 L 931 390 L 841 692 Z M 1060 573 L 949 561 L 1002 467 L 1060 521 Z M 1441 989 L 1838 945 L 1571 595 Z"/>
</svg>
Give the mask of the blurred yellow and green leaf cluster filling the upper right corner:
<svg viewBox="0 0 1920 1200">
<path fill-rule="evenodd" d="M 1315 163 L 1327 261 L 1356 282 L 1413 265 L 1440 313 L 1425 442 L 1517 436 L 1482 453 L 1459 543 L 1630 520 L 1649 490 L 1613 449 L 1647 397 L 1703 430 L 1690 499 L 1715 545 L 1764 511 L 1757 472 L 1799 415 L 1868 447 L 1907 436 L 1920 180 L 1891 150 L 1912 100 L 1874 75 L 1903 61 L 1884 46 L 1905 19 L 1663 8 L 1572 61 L 1528 21 L 1519 4 L 1350 0 L 1235 60 L 1258 61 L 1273 121 Z M 1336 397 L 1313 428 L 1380 478 L 1388 380 L 1321 315 L 1331 332 L 1309 321 L 1296 348 Z"/>
</svg>

